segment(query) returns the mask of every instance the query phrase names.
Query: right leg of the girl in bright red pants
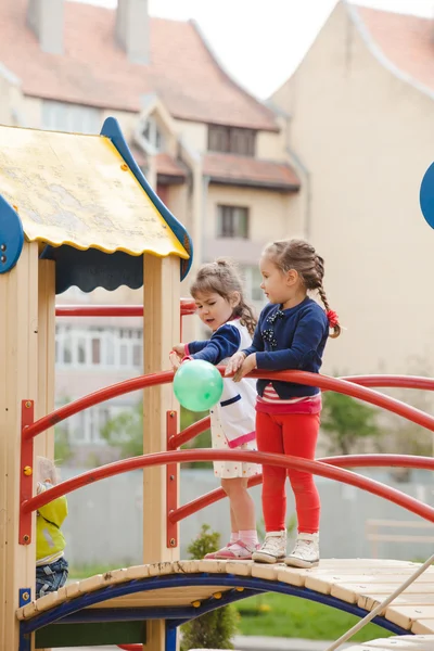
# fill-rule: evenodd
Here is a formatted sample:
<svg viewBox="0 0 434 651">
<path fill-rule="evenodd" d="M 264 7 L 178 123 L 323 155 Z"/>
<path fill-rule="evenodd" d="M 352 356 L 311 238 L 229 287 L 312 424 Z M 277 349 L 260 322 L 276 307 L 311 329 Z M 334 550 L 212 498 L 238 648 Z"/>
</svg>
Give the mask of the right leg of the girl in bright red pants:
<svg viewBox="0 0 434 651">
<path fill-rule="evenodd" d="M 291 413 L 280 417 L 283 424 L 285 455 L 315 459 L 319 431 L 319 414 Z M 298 519 L 298 532 L 316 534 L 319 529 L 320 501 L 314 476 L 308 472 L 289 470 Z"/>
</svg>

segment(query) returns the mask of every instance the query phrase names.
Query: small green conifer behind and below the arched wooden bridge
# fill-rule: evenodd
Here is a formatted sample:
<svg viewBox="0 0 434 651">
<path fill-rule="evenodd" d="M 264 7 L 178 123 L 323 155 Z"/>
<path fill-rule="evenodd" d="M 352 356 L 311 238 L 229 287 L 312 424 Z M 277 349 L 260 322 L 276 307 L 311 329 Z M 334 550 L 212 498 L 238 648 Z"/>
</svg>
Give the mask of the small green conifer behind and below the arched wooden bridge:
<svg viewBox="0 0 434 651">
<path fill-rule="evenodd" d="M 220 534 L 207 524 L 202 525 L 199 536 L 189 545 L 192 559 L 203 559 L 206 553 L 220 547 Z M 233 649 L 238 614 L 232 604 L 205 613 L 181 626 L 181 651 L 189 649 Z"/>
</svg>

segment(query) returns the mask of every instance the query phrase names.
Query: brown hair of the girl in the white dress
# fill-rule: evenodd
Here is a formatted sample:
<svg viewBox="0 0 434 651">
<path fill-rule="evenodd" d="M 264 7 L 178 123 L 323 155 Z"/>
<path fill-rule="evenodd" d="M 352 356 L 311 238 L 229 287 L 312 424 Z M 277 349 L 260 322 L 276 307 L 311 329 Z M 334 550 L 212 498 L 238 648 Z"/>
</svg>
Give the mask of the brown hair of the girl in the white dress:
<svg viewBox="0 0 434 651">
<path fill-rule="evenodd" d="M 234 292 L 240 294 L 240 303 L 235 305 L 232 314 L 240 318 L 241 324 L 245 326 L 248 333 L 253 335 L 256 318 L 245 302 L 243 284 L 237 267 L 229 260 L 219 258 L 215 263 L 202 265 L 199 269 L 196 279 L 190 288 L 190 294 L 195 298 L 197 294 L 210 292 L 219 294 L 225 301 L 229 301 Z"/>
</svg>

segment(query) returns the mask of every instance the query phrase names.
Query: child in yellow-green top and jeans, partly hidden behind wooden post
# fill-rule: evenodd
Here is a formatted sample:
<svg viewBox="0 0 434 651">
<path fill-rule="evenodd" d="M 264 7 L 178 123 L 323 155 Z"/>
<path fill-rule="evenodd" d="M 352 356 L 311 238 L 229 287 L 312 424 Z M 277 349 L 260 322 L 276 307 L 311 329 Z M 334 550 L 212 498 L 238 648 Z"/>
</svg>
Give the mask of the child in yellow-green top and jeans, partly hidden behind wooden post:
<svg viewBox="0 0 434 651">
<path fill-rule="evenodd" d="M 58 483 L 54 463 L 36 458 L 37 493 Z M 68 563 L 64 558 L 65 538 L 61 526 L 67 515 L 66 497 L 58 497 L 36 513 L 36 598 L 54 592 L 66 583 Z"/>
</svg>

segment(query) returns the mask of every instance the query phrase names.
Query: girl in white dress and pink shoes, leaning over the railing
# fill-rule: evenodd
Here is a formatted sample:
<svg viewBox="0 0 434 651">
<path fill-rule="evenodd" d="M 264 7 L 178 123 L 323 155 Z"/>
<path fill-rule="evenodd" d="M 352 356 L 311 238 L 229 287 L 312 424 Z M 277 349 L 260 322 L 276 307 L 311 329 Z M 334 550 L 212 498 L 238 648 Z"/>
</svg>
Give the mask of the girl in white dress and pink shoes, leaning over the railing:
<svg viewBox="0 0 434 651">
<path fill-rule="evenodd" d="M 226 259 L 203 265 L 190 288 L 197 315 L 212 335 L 208 340 L 177 344 L 170 359 L 174 369 L 190 359 L 225 365 L 229 358 L 252 345 L 256 319 L 245 303 L 235 267 Z M 256 450 L 255 381 L 224 380 L 220 401 L 210 410 L 212 444 L 216 449 Z M 214 474 L 229 497 L 231 537 L 225 547 L 205 558 L 251 560 L 259 547 L 255 506 L 247 490 L 248 477 L 258 474 L 256 463 L 215 461 Z"/>
</svg>

